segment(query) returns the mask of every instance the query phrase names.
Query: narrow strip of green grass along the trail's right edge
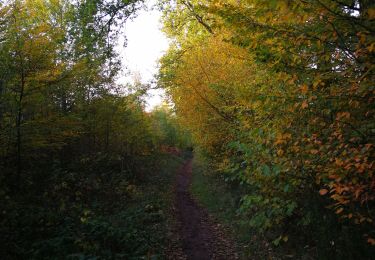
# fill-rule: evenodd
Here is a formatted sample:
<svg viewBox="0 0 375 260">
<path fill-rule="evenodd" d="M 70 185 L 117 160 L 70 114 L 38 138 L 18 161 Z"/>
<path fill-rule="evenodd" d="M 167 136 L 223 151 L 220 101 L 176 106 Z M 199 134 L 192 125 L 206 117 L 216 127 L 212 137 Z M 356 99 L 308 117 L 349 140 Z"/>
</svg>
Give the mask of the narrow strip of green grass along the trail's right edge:
<svg viewBox="0 0 375 260">
<path fill-rule="evenodd" d="M 275 252 L 265 238 L 250 227 L 249 219 L 237 213 L 240 187 L 226 183 L 204 163 L 194 160 L 191 192 L 198 203 L 232 236 L 241 259 L 275 258 Z"/>
</svg>

